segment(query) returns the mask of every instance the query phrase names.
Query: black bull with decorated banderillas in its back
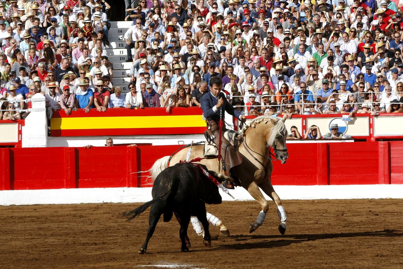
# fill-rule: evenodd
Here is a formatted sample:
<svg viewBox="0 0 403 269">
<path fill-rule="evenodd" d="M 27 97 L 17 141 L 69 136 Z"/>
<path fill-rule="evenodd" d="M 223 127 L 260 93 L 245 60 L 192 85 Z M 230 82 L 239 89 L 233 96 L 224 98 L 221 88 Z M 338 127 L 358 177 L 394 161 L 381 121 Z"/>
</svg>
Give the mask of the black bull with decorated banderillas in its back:
<svg viewBox="0 0 403 269">
<path fill-rule="evenodd" d="M 208 171 L 206 166 L 202 165 L 202 167 Z M 209 173 L 217 176 L 213 171 L 209 171 Z M 216 177 L 216 179 L 218 178 Z M 189 250 L 186 246 L 185 238 L 187 238 L 187 227 L 191 216 L 196 216 L 202 223 L 204 228 L 203 243 L 206 246 L 211 246 L 205 203 L 220 204 L 222 199 L 218 192 L 218 186 L 199 167 L 191 163 L 177 163 L 166 168 L 154 181 L 152 197 L 151 201 L 144 203 L 133 211 L 123 213 L 123 216 L 128 217 L 129 221 L 151 206 L 147 238 L 145 238 L 139 254 L 146 252 L 148 241 L 152 237 L 162 214 L 164 214 L 164 222 L 171 220 L 172 213 L 179 215 L 181 223 L 179 237 L 181 238 L 181 250 L 183 252 Z"/>
</svg>

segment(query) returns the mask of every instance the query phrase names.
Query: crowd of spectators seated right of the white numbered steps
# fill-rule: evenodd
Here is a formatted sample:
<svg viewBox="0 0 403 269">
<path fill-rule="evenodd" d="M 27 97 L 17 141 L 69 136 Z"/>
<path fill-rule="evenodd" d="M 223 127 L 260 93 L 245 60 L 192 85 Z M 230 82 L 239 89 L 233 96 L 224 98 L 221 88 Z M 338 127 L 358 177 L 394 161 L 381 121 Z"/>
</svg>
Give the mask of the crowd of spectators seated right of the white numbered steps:
<svg viewBox="0 0 403 269">
<path fill-rule="evenodd" d="M 403 112 L 399 0 L 126 3 L 128 107 L 198 106 L 217 76 L 243 115 Z"/>
</svg>

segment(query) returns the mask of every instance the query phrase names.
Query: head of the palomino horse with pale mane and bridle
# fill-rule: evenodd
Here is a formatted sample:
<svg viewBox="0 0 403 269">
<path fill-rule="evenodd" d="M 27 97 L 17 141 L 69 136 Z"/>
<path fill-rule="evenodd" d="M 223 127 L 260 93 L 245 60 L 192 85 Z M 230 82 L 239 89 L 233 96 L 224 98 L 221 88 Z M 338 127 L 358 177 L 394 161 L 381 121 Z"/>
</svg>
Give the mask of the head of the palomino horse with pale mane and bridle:
<svg viewBox="0 0 403 269">
<path fill-rule="evenodd" d="M 284 116 L 281 120 L 273 121 L 274 127 L 270 130 L 267 139 L 267 146 L 273 148 L 274 156 L 283 164 L 287 162 L 288 158 L 287 145 L 285 144 L 288 132 L 284 124 L 285 119 Z"/>
</svg>

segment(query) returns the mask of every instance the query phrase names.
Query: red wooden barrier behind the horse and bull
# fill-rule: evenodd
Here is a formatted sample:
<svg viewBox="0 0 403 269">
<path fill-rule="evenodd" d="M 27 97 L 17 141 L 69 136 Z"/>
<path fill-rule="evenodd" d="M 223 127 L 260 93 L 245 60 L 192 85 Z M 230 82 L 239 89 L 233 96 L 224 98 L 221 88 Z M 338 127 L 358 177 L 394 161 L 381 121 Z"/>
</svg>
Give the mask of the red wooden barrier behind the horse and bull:
<svg viewBox="0 0 403 269">
<path fill-rule="evenodd" d="M 274 185 L 403 184 L 403 141 L 288 144 Z M 0 148 L 0 190 L 146 187 L 172 146 Z"/>
</svg>

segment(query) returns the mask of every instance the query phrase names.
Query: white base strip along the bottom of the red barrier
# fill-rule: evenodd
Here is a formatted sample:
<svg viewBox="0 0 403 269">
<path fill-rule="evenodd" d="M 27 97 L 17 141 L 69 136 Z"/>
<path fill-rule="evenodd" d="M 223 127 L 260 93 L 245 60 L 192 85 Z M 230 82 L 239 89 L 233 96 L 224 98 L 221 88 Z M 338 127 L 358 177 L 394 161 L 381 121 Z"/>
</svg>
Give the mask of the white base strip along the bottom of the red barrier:
<svg viewBox="0 0 403 269">
<path fill-rule="evenodd" d="M 275 186 L 283 200 L 403 198 L 402 185 Z M 221 192 L 221 191 L 220 191 Z M 237 201 L 253 200 L 244 188 L 230 193 Z M 221 192 L 223 201 L 233 199 Z M 268 196 L 265 195 L 268 198 Z M 0 205 L 129 203 L 151 200 L 151 188 L 82 188 L 0 191 Z"/>
</svg>

